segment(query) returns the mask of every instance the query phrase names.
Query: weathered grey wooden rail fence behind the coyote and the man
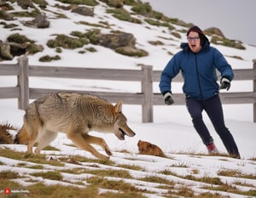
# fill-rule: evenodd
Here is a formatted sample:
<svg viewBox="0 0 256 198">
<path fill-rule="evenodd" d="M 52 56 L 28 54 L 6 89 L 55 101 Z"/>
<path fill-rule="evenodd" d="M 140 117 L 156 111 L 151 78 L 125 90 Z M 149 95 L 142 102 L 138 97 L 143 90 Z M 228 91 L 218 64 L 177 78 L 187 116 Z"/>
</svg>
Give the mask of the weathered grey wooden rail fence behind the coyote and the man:
<svg viewBox="0 0 256 198">
<path fill-rule="evenodd" d="M 0 65 L 0 76 L 17 76 L 16 87 L 0 87 L 0 99 L 18 99 L 18 107 L 26 109 L 29 99 L 38 99 L 40 96 L 59 92 L 75 91 L 78 93 L 96 94 L 109 102 L 123 100 L 124 104 L 142 105 L 143 122 L 153 122 L 154 105 L 165 105 L 160 93 L 153 92 L 153 82 L 160 81 L 161 71 L 153 71 L 149 65 L 142 66 L 141 70 L 116 70 L 116 69 L 93 69 L 77 67 L 57 67 L 28 65 L 26 56 L 20 57 L 17 64 Z M 253 59 L 253 69 L 234 70 L 234 81 L 251 80 L 253 82 L 252 92 L 220 93 L 224 104 L 253 104 L 253 122 L 256 122 L 256 59 Z M 120 93 L 120 92 L 91 92 L 78 90 L 60 90 L 47 88 L 29 88 L 30 76 L 43 76 L 55 78 L 91 79 L 141 82 L 140 93 Z M 173 82 L 182 82 L 182 76 L 178 75 Z M 175 105 L 184 105 L 183 93 L 173 95 Z"/>
</svg>

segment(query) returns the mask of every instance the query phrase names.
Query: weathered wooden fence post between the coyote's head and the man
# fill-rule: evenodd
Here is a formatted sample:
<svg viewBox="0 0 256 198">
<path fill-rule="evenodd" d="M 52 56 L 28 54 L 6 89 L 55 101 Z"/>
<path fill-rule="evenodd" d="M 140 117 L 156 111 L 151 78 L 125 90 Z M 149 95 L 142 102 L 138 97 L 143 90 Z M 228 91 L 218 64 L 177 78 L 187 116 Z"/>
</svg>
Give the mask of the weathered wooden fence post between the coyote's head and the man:
<svg viewBox="0 0 256 198">
<path fill-rule="evenodd" d="M 143 122 L 153 122 L 153 66 L 143 65 Z"/>
</svg>

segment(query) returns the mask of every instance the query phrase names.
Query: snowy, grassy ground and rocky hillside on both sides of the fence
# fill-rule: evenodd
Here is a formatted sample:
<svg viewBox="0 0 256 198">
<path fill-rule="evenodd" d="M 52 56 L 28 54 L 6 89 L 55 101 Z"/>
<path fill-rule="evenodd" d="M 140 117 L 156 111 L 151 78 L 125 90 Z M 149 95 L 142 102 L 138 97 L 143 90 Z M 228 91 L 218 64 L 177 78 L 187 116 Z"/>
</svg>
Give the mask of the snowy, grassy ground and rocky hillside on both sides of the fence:
<svg viewBox="0 0 256 198">
<path fill-rule="evenodd" d="M 21 8 L 20 3 L 27 4 Z M 1 18 L 0 40 L 10 44 L 10 54 L 14 56 L 2 59 L 1 64 L 15 63 L 21 53 L 28 55 L 31 65 L 120 70 L 153 65 L 154 70 L 162 70 L 180 49 L 180 43 L 186 42 L 185 32 L 190 26 L 155 12 L 148 3 L 133 0 L 13 0 L 0 4 L 1 11 L 7 10 L 13 16 L 8 20 Z M 86 10 L 90 15 L 73 12 L 80 7 L 89 8 Z M 35 27 L 38 14 L 46 16 L 49 24 L 46 21 L 44 25 L 49 27 Z M 224 53 L 235 69 L 252 68 L 256 48 L 230 41 L 218 28 L 205 31 L 212 45 Z M 9 40 L 10 35 L 18 37 Z M 129 39 L 115 48 L 102 42 L 111 36 Z M 39 47 L 38 51 L 29 46 Z M 130 53 L 124 54 L 120 48 Z M 0 78 L 0 86 L 15 83 L 13 76 Z M 139 90 L 137 85 L 106 81 L 38 78 L 30 83 L 39 88 Z M 181 92 L 180 87 L 177 85 L 175 92 Z M 158 85 L 154 89 L 158 92 Z M 232 84 L 233 91 L 245 89 L 252 90 L 252 84 Z M 208 156 L 184 106 L 157 106 L 154 123 L 145 124 L 141 122 L 140 106 L 124 105 L 128 123 L 137 133 L 135 137 L 120 141 L 113 134 L 93 132 L 113 150 L 109 161 L 96 160 L 62 133 L 40 156 L 27 155 L 26 145 L 0 144 L 0 197 L 255 197 L 256 125 L 251 110 L 252 105 L 224 106 L 241 160 L 226 156 L 222 142 L 206 120 L 220 151 L 218 156 Z M 10 123 L 15 129 L 9 132 L 15 136 L 22 126 L 24 111 L 17 109 L 15 99 L 1 99 L 0 112 L 0 124 Z M 139 139 L 159 145 L 166 157 L 139 155 Z M 5 195 L 8 190 L 10 194 Z"/>
</svg>

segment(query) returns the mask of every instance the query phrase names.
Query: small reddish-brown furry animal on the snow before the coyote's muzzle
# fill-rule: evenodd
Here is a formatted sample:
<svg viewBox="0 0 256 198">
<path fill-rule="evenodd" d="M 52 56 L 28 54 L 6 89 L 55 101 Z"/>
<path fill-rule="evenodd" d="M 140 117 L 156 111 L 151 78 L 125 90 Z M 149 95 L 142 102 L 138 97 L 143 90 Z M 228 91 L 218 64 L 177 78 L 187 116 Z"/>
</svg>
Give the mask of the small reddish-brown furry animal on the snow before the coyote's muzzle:
<svg viewBox="0 0 256 198">
<path fill-rule="evenodd" d="M 139 140 L 137 142 L 137 147 L 139 154 L 150 156 L 165 156 L 163 150 L 161 150 L 157 145 L 151 144 L 149 142 Z"/>
</svg>

